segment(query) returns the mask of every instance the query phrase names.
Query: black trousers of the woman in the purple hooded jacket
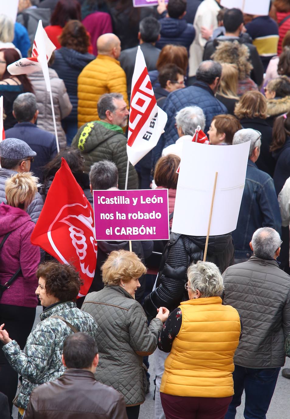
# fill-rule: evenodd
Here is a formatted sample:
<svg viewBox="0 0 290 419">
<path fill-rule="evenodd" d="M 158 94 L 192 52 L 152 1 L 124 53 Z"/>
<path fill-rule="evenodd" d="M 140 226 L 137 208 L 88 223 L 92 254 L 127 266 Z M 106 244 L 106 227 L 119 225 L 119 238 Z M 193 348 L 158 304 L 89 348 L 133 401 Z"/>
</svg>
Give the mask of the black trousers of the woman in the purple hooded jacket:
<svg viewBox="0 0 290 419">
<path fill-rule="evenodd" d="M 0 304 L 0 324 L 5 323 L 10 339 L 15 339 L 23 350 L 26 339 L 31 332 L 36 308 L 21 307 L 18 305 Z M 8 397 L 10 414 L 12 415 L 13 398 L 18 385 L 18 373 L 13 370 L 0 343 L 0 391 Z"/>
</svg>

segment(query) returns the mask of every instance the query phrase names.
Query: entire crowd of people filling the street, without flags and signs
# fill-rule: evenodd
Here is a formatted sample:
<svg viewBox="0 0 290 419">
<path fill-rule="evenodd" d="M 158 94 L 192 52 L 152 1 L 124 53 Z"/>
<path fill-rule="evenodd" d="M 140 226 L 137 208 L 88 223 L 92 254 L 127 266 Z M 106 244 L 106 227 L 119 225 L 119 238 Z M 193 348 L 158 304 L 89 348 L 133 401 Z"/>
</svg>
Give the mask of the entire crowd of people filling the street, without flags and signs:
<svg viewBox="0 0 290 419">
<path fill-rule="evenodd" d="M 137 419 L 153 380 L 155 419 L 234 419 L 243 391 L 244 417 L 265 419 L 290 356 L 290 0 L 267 16 L 156 3 L 19 0 L 15 23 L 0 10 L 3 419 L 13 405 L 18 419 Z M 8 71 L 40 19 L 56 129 L 43 72 Z M 139 46 L 168 121 L 127 172 Z M 171 231 L 198 126 L 210 147 L 250 144 L 237 228 L 208 243 Z M 75 267 L 31 243 L 63 158 L 92 207 L 94 190 L 168 189 L 169 240 L 99 241 L 85 297 Z"/>
</svg>

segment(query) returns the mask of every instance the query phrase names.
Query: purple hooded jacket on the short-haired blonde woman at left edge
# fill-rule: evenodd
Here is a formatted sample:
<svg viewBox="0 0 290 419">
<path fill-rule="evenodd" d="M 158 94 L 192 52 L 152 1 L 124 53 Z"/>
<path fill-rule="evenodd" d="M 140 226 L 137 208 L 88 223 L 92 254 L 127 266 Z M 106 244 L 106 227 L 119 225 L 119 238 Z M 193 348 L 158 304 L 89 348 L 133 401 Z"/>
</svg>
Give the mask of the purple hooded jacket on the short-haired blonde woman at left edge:
<svg viewBox="0 0 290 419">
<path fill-rule="evenodd" d="M 20 208 L 0 204 L 0 243 L 12 231 L 0 250 L 0 283 L 5 284 L 21 266 L 22 274 L 4 291 L 1 304 L 36 307 L 35 290 L 38 285 L 36 270 L 40 262 L 38 246 L 30 238 L 35 224 L 30 215 Z"/>
</svg>

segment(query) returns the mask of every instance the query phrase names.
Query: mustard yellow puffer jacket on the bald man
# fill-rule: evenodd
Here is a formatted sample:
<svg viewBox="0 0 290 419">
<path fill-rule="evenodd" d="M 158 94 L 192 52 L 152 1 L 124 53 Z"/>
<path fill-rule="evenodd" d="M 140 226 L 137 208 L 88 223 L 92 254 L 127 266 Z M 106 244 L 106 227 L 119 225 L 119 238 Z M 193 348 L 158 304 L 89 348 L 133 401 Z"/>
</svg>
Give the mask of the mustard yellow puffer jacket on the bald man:
<svg viewBox="0 0 290 419">
<path fill-rule="evenodd" d="M 78 127 L 99 120 L 97 103 L 104 93 L 121 93 L 128 104 L 126 75 L 120 62 L 99 54 L 78 77 Z"/>
</svg>

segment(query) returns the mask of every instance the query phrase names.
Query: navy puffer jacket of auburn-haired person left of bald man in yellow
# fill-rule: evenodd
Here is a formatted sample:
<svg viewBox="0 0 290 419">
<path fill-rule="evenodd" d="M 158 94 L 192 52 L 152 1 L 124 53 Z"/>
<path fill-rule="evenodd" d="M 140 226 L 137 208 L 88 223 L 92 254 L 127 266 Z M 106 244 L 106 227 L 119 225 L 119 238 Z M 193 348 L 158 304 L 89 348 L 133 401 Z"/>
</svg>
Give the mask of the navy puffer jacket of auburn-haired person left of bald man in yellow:
<svg viewBox="0 0 290 419">
<path fill-rule="evenodd" d="M 61 47 L 54 51 L 54 62 L 51 66 L 56 70 L 59 78 L 64 80 L 69 100 L 73 106 L 66 120 L 76 121 L 78 115 L 78 77 L 83 68 L 89 64 L 95 56 L 89 53 L 81 54 L 71 48 Z"/>
</svg>

